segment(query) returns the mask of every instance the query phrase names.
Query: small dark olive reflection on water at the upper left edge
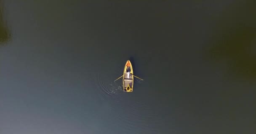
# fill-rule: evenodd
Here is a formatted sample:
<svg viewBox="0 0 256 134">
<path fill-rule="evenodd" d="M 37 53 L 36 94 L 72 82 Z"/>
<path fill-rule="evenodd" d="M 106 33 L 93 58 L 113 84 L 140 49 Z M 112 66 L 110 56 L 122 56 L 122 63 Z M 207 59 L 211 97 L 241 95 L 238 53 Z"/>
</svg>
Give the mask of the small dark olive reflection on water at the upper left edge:
<svg viewBox="0 0 256 134">
<path fill-rule="evenodd" d="M 6 44 L 10 40 L 11 33 L 4 17 L 3 1 L 0 0 L 0 44 Z"/>
</svg>

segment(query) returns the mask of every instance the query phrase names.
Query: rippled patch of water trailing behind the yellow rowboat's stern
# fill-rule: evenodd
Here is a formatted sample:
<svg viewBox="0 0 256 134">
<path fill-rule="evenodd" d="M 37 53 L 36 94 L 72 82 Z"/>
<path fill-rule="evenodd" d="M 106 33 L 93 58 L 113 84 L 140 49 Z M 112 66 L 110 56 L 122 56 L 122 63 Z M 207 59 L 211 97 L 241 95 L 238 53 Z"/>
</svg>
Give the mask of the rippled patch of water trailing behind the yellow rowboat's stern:
<svg viewBox="0 0 256 134">
<path fill-rule="evenodd" d="M 109 120 L 110 126 L 122 129 L 123 132 L 133 131 L 133 133 L 142 134 L 142 131 L 157 131 L 159 127 L 160 114 L 152 110 L 152 104 L 144 100 L 143 95 L 138 94 L 139 79 L 134 79 L 136 90 L 132 93 L 123 92 L 122 78 L 114 82 L 117 77 L 122 75 L 124 65 L 118 67 L 118 63 L 112 65 L 108 70 L 99 70 L 94 76 L 93 84 L 96 85 L 96 92 L 101 99 L 105 116 Z M 113 76 L 113 77 L 112 77 Z M 125 124 L 125 127 L 123 125 Z M 154 124 L 152 126 L 151 124 Z"/>
</svg>

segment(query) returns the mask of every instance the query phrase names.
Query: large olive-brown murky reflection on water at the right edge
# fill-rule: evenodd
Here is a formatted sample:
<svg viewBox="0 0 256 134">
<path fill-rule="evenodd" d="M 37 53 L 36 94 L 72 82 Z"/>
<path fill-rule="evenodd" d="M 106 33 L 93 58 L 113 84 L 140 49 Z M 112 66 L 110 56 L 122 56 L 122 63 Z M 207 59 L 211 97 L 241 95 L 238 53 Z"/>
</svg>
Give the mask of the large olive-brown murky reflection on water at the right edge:
<svg viewBox="0 0 256 134">
<path fill-rule="evenodd" d="M 226 11 L 213 39 L 211 58 L 225 62 L 229 73 L 256 79 L 256 8 L 253 4 L 239 4 Z"/>
</svg>

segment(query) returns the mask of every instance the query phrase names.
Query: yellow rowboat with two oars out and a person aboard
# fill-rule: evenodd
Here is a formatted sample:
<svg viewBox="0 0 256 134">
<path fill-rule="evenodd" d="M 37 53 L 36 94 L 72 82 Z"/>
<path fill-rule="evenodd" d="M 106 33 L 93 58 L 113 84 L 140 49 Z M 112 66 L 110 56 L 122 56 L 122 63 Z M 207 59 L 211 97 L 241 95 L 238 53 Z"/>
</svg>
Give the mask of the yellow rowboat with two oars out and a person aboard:
<svg viewBox="0 0 256 134">
<path fill-rule="evenodd" d="M 133 67 L 131 65 L 130 60 L 128 60 L 125 63 L 125 68 L 123 70 L 123 75 L 121 77 L 123 77 L 123 91 L 124 92 L 132 92 L 133 91 Z M 119 77 L 118 79 L 120 79 L 121 77 Z M 136 76 L 134 76 L 136 77 Z M 139 77 L 136 77 L 139 78 Z M 118 80 L 117 79 L 117 80 Z M 139 78 L 140 80 L 143 80 L 141 78 Z M 116 81 L 116 80 L 115 80 Z"/>
</svg>

